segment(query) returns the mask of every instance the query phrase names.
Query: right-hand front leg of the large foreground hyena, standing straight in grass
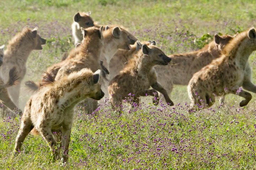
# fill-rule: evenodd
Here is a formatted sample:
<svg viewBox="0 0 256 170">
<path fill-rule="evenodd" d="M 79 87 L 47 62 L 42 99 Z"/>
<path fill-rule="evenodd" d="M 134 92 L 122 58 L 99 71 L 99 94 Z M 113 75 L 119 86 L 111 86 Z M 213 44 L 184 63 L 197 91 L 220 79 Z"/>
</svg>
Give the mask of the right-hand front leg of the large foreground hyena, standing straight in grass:
<svg viewBox="0 0 256 170">
<path fill-rule="evenodd" d="M 72 123 L 70 123 L 69 125 L 63 126 L 63 131 L 62 131 L 63 162 L 68 161 L 71 126 L 72 126 Z"/>
</svg>

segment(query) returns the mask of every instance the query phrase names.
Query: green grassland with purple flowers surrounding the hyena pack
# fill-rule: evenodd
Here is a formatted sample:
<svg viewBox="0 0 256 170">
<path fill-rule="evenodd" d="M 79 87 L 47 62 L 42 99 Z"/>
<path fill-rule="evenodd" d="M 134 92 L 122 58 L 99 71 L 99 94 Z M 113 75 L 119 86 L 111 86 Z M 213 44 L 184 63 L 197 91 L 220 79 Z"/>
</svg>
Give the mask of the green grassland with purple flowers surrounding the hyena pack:
<svg viewBox="0 0 256 170">
<path fill-rule="evenodd" d="M 100 24 L 121 24 L 139 40 L 155 40 L 167 55 L 197 50 L 215 33 L 235 34 L 255 26 L 256 1 L 0 0 L 0 45 L 24 26 L 38 27 L 47 39 L 28 58 L 25 80 L 42 72 L 73 48 L 71 23 L 77 11 L 91 11 Z M 255 53 L 250 57 L 256 83 Z M 21 109 L 29 93 L 22 83 Z M 20 118 L 0 120 L 0 169 L 256 169 L 256 95 L 244 108 L 242 98 L 226 106 L 189 114 L 186 86 L 171 94 L 174 107 L 141 104 L 119 116 L 103 102 L 93 115 L 76 109 L 70 158 L 53 162 L 41 136 L 29 135 L 13 157 Z"/>
</svg>

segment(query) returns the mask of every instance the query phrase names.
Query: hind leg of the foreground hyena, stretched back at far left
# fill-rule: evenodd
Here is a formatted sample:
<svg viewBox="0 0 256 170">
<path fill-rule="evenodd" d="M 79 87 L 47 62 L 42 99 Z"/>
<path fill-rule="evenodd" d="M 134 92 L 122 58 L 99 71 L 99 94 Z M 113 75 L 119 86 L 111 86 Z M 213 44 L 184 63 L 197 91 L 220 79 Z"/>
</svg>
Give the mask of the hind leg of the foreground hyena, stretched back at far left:
<svg viewBox="0 0 256 170">
<path fill-rule="evenodd" d="M 29 134 L 29 132 L 33 128 L 34 126 L 32 124 L 30 117 L 22 117 L 20 130 L 15 140 L 15 149 L 14 149 L 15 153 L 17 153 L 20 150 L 21 145 L 24 142 L 26 136 Z"/>
</svg>

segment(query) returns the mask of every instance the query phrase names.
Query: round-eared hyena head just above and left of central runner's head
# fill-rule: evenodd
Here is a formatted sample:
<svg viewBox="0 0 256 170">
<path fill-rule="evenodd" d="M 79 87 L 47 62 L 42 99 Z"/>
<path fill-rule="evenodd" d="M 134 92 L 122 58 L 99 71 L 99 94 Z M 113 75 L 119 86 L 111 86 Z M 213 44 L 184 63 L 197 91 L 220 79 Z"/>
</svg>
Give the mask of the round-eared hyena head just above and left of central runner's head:
<svg viewBox="0 0 256 170">
<path fill-rule="evenodd" d="M 115 41 L 117 49 L 130 50 L 130 45 L 136 42 L 136 40 L 132 39 L 125 30 L 122 30 L 119 27 L 110 28 L 106 26 L 103 36 L 105 38 L 105 44 Z"/>
</svg>

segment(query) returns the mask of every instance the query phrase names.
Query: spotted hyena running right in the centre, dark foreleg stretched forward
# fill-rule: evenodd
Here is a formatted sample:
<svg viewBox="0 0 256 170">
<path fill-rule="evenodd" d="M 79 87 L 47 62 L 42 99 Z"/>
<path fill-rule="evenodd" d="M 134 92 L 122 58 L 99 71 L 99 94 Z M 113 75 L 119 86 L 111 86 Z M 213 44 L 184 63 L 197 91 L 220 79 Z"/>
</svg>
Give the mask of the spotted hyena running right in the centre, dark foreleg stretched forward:
<svg viewBox="0 0 256 170">
<path fill-rule="evenodd" d="M 127 66 L 114 77 L 109 86 L 108 93 L 113 107 L 120 106 L 122 100 L 128 96 L 129 93 L 134 95 L 134 102 L 139 102 L 140 96 L 151 95 L 158 98 L 158 93 L 162 93 L 165 97 L 166 103 L 173 105 L 174 103 L 169 98 L 166 90 L 158 83 L 155 65 L 167 65 L 171 58 L 167 57 L 158 47 L 146 44 L 142 45 L 140 50 L 134 58 L 129 61 Z M 153 89 L 149 90 L 149 87 Z M 158 104 L 153 101 L 154 104 Z"/>
</svg>

